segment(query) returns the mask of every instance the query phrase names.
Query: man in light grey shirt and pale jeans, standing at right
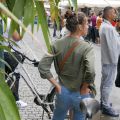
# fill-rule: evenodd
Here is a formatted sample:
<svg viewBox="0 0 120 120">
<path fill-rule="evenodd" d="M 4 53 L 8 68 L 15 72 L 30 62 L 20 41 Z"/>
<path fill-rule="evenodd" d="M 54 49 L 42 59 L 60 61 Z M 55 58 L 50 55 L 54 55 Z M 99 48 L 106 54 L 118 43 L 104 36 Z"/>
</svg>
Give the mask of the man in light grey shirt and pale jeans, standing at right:
<svg viewBox="0 0 120 120">
<path fill-rule="evenodd" d="M 119 114 L 112 108 L 109 96 L 115 82 L 118 57 L 120 54 L 120 36 L 111 22 L 116 18 L 116 10 L 113 7 L 105 7 L 103 10 L 103 23 L 100 27 L 101 40 L 101 110 L 105 115 L 118 117 Z"/>
</svg>

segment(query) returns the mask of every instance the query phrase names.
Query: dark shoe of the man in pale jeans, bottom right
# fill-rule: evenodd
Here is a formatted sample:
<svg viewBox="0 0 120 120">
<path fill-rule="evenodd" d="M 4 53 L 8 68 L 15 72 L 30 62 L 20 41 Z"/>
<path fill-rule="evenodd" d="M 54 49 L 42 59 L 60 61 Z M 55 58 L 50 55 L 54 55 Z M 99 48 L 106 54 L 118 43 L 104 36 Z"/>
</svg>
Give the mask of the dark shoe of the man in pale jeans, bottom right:
<svg viewBox="0 0 120 120">
<path fill-rule="evenodd" d="M 119 114 L 112 107 L 105 108 L 102 106 L 101 110 L 102 114 L 104 115 L 109 115 L 111 117 L 119 117 Z"/>
</svg>

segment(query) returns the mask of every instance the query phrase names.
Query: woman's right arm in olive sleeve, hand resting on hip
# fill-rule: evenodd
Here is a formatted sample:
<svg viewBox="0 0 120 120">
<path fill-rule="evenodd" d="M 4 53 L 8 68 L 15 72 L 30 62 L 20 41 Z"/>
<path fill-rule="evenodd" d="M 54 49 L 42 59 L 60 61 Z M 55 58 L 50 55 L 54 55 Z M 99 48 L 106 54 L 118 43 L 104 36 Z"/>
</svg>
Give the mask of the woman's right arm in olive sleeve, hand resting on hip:
<svg viewBox="0 0 120 120">
<path fill-rule="evenodd" d="M 95 79 L 95 68 L 94 68 L 94 50 L 90 47 L 85 53 L 85 71 L 84 71 L 84 81 L 82 83 L 80 93 L 88 94 L 90 93 L 89 85 L 94 83 Z"/>
</svg>

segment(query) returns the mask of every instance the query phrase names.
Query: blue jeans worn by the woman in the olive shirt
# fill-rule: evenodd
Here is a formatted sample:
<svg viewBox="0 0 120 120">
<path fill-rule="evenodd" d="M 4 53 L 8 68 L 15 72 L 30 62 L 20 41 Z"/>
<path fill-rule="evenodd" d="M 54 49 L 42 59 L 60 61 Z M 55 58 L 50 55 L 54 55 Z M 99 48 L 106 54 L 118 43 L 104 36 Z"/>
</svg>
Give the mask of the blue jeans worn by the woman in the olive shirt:
<svg viewBox="0 0 120 120">
<path fill-rule="evenodd" d="M 90 97 L 87 95 L 80 95 L 80 92 L 73 92 L 62 86 L 61 94 L 56 95 L 55 109 L 52 120 L 64 120 L 68 110 L 73 110 L 73 120 L 85 120 L 85 114 L 80 111 L 80 101 L 84 98 Z"/>
</svg>

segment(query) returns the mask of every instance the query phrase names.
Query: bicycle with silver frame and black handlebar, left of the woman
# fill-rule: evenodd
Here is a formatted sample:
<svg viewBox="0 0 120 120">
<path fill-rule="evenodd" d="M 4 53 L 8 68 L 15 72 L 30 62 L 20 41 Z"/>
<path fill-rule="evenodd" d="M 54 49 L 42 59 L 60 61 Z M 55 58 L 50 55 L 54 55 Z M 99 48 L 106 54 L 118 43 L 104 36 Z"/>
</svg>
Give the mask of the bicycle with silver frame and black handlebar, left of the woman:
<svg viewBox="0 0 120 120">
<path fill-rule="evenodd" d="M 23 53 L 19 52 L 18 50 L 15 50 L 11 45 L 9 45 L 9 46 L 14 51 L 13 54 L 16 57 L 16 59 L 18 60 L 18 61 L 16 61 L 12 57 L 12 55 L 10 55 L 9 53 L 7 53 L 7 52 L 5 53 L 5 60 L 7 61 L 9 58 L 11 60 L 8 60 L 8 61 L 12 61 L 11 65 L 10 65 L 12 71 L 7 66 L 5 66 L 5 71 L 8 74 L 8 76 L 6 76 L 6 82 L 8 83 L 10 89 L 14 90 L 14 86 L 17 84 L 16 81 L 19 81 L 20 77 L 22 77 L 22 79 L 25 81 L 25 83 L 27 84 L 27 86 L 30 88 L 31 92 L 35 96 L 34 103 L 36 103 L 37 105 L 39 105 L 43 108 L 42 120 L 44 117 L 44 111 L 47 113 L 48 118 L 51 119 L 51 112 L 53 112 L 53 109 L 54 109 L 53 106 L 54 106 L 55 88 L 53 86 L 51 86 L 48 94 L 46 94 L 46 95 L 39 94 L 35 84 L 32 82 L 31 77 L 29 76 L 29 74 L 27 73 L 27 71 L 24 67 L 23 67 L 23 70 L 26 73 L 27 77 L 29 78 L 29 81 L 27 81 L 24 78 L 24 76 L 22 74 L 20 74 L 19 72 L 18 73 L 15 72 L 15 69 L 17 68 L 18 64 L 22 65 L 24 63 L 25 59 L 30 61 L 31 64 L 34 65 L 34 67 L 38 67 L 39 61 L 37 61 L 35 59 L 32 60 L 29 57 L 27 57 L 26 55 L 24 55 Z M 50 108 L 50 110 L 48 107 Z"/>
</svg>

